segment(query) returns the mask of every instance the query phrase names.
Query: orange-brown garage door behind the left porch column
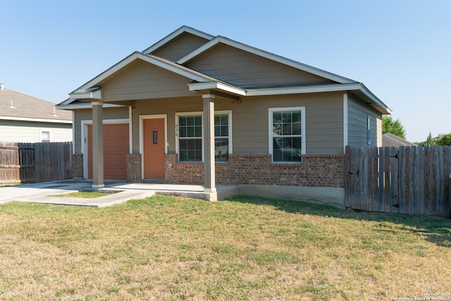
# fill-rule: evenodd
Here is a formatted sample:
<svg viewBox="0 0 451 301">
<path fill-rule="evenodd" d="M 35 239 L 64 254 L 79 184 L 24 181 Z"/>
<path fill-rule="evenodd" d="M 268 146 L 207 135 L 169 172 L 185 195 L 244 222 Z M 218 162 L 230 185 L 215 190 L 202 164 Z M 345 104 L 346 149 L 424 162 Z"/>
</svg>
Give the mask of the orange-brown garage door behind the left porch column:
<svg viewBox="0 0 451 301">
<path fill-rule="evenodd" d="M 87 126 L 87 153 L 88 178 L 92 179 L 92 125 Z M 127 179 L 126 154 L 130 154 L 128 123 L 104 124 L 104 179 Z"/>
</svg>

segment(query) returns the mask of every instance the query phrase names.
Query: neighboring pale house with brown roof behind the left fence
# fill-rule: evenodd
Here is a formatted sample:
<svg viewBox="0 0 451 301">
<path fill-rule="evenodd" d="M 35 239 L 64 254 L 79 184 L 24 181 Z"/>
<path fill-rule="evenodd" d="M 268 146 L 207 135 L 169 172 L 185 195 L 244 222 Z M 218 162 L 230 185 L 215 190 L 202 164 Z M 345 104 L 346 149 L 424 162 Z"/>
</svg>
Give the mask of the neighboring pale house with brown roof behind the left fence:
<svg viewBox="0 0 451 301">
<path fill-rule="evenodd" d="M 0 82 L 0 141 L 72 141 L 72 113 L 55 104 L 8 90 Z"/>
</svg>

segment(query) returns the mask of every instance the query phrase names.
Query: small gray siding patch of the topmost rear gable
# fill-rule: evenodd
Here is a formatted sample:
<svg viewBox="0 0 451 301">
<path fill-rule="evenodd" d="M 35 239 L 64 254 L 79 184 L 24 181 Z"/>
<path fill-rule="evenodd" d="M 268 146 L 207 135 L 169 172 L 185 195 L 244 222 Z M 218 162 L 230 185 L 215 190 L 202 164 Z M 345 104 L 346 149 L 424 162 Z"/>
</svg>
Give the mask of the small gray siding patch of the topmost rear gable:
<svg viewBox="0 0 451 301">
<path fill-rule="evenodd" d="M 208 39 L 204 39 L 203 37 L 185 32 L 182 37 L 178 37 L 178 39 L 175 39 L 170 44 L 165 44 L 160 49 L 156 49 L 152 54 L 160 56 L 163 59 L 177 61 L 208 41 Z"/>
</svg>

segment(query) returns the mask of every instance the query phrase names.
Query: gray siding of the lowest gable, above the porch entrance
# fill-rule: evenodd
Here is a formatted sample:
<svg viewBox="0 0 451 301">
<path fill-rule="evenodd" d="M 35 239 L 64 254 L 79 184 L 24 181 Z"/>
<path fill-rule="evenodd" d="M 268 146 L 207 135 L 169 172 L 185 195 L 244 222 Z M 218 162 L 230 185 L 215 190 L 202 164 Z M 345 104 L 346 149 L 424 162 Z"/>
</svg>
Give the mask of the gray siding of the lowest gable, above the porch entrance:
<svg viewBox="0 0 451 301">
<path fill-rule="evenodd" d="M 191 96 L 194 92 L 188 90 L 189 82 L 189 78 L 137 60 L 101 87 L 105 101 L 120 101 Z"/>
</svg>

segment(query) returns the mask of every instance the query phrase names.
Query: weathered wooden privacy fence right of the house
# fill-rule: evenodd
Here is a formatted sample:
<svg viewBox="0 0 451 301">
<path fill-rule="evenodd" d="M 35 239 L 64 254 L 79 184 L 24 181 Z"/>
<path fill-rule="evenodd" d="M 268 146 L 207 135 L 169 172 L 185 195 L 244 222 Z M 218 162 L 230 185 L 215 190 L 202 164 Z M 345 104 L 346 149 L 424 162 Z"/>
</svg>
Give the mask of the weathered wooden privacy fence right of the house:
<svg viewBox="0 0 451 301">
<path fill-rule="evenodd" d="M 351 209 L 451 217 L 451 147 L 346 147 Z"/>
</svg>

